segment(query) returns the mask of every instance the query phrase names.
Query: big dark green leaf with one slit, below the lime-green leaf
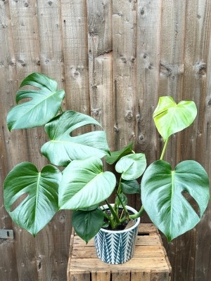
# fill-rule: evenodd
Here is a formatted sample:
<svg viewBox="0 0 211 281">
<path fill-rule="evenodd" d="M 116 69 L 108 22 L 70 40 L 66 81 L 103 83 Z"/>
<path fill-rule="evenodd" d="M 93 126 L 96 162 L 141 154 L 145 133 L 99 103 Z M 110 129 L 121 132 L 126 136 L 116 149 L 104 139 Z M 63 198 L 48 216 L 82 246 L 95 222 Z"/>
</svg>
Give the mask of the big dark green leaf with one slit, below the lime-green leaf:
<svg viewBox="0 0 211 281">
<path fill-rule="evenodd" d="M 182 192 L 188 192 L 198 204 L 196 214 Z M 141 200 L 151 221 L 170 241 L 200 221 L 210 197 L 209 180 L 203 166 L 193 160 L 181 162 L 172 170 L 158 160 L 143 174 Z"/>
</svg>

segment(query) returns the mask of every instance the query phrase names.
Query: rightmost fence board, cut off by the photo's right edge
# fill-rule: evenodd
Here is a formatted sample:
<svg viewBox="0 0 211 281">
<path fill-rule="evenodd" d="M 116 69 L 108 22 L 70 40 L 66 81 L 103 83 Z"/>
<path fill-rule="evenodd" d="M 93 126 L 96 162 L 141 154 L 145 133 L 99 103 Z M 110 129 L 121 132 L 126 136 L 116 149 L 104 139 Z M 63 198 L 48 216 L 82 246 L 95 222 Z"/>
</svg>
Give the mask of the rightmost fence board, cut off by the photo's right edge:
<svg viewBox="0 0 211 281">
<path fill-rule="evenodd" d="M 201 93 L 200 103 L 198 104 L 198 133 L 196 140 L 196 159 L 207 168 L 210 175 L 210 70 L 211 70 L 211 1 L 204 1 L 198 6 L 197 20 L 199 21 L 200 32 L 198 37 L 198 46 L 200 50 L 200 65 L 198 74 L 200 74 Z M 198 50 L 198 51 L 199 51 Z M 198 151 L 199 148 L 199 151 Z M 197 226 L 196 236 L 196 256 L 195 256 L 195 275 L 197 281 L 208 280 L 211 276 L 210 256 L 211 256 L 211 204 L 203 216 L 202 221 Z"/>
</svg>

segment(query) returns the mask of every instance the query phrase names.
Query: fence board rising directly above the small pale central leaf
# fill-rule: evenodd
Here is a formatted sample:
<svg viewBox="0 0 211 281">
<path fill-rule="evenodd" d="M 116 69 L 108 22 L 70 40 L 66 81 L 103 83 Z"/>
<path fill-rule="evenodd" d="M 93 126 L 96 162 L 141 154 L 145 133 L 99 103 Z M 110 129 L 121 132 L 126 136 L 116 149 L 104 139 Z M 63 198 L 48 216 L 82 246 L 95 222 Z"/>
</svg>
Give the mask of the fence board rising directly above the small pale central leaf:
<svg viewBox="0 0 211 281">
<path fill-rule="evenodd" d="M 113 79 L 117 149 L 134 141 L 136 115 L 136 1 L 113 1 Z"/>
</svg>

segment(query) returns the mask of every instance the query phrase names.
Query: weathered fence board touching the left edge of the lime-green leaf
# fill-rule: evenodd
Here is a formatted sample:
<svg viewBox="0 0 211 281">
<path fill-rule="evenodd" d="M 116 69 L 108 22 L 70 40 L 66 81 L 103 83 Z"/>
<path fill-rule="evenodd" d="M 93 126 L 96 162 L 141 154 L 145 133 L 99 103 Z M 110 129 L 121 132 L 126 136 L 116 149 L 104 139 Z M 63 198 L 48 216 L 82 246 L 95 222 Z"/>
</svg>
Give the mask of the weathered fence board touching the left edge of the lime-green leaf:
<svg viewBox="0 0 211 281">
<path fill-rule="evenodd" d="M 158 135 L 153 123 L 153 112 L 158 103 L 161 15 L 161 0 L 138 1 L 136 79 L 140 112 L 137 116 L 136 147 L 146 154 L 148 164 L 158 158 Z"/>
</svg>

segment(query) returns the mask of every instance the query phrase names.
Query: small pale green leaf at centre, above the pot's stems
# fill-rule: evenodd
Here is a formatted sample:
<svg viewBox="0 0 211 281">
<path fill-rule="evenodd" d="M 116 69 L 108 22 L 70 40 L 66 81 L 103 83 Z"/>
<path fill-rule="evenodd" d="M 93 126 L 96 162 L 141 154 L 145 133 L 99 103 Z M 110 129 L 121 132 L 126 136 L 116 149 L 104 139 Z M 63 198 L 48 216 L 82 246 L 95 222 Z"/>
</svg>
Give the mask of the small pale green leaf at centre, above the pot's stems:
<svg viewBox="0 0 211 281">
<path fill-rule="evenodd" d="M 131 181 L 139 178 L 146 169 L 146 157 L 143 153 L 133 153 L 122 157 L 115 169 L 122 174 L 122 178 Z"/>
</svg>

